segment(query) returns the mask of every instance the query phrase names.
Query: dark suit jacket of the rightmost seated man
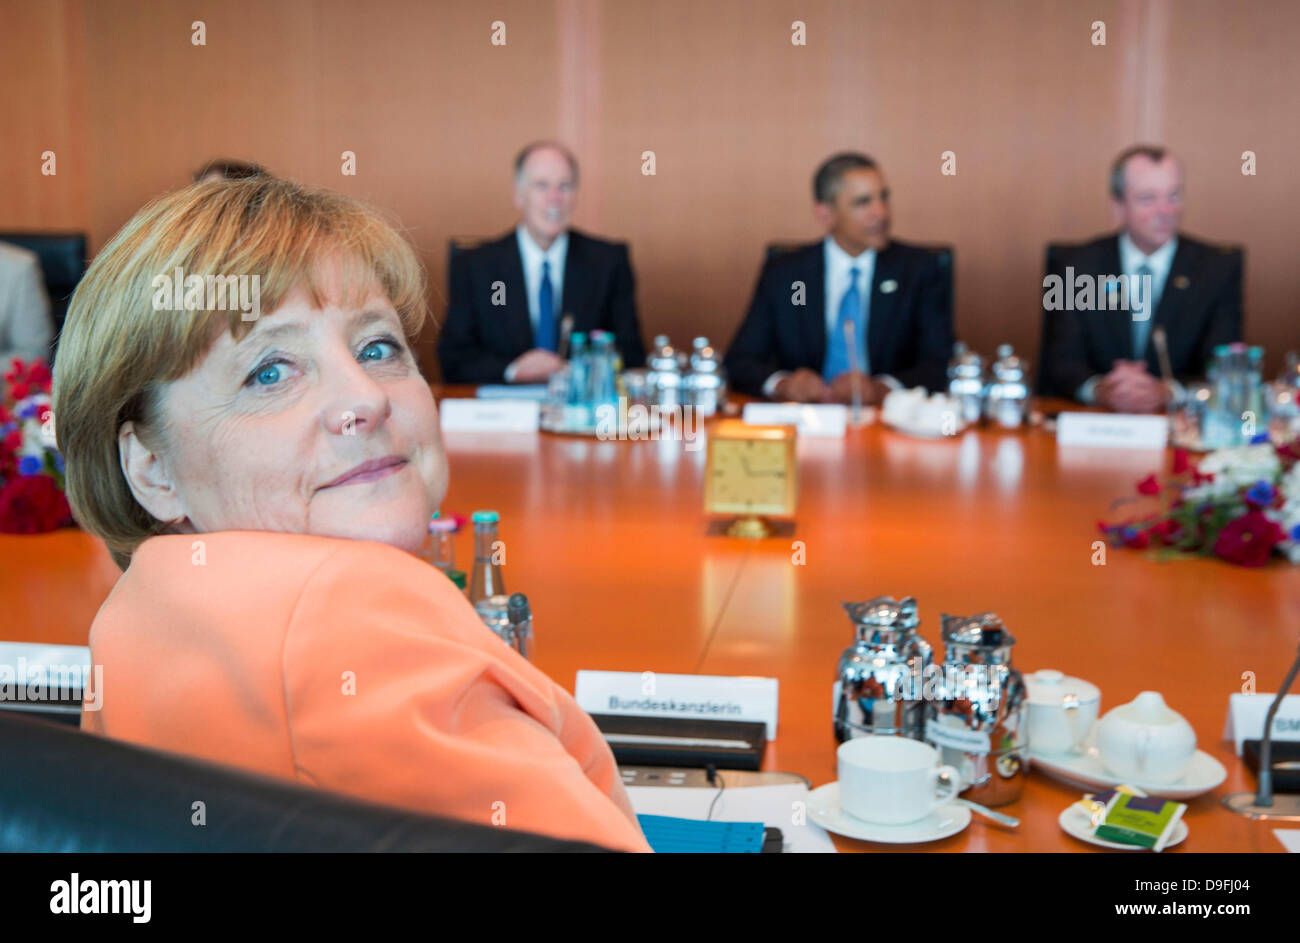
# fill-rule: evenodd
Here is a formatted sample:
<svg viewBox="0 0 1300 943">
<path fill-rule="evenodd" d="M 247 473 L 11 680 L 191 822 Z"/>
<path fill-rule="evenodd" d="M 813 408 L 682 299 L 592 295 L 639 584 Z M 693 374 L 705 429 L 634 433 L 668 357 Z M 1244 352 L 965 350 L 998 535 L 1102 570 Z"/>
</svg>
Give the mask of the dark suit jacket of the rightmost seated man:
<svg viewBox="0 0 1300 943">
<path fill-rule="evenodd" d="M 1079 276 L 1118 276 L 1119 237 L 1106 235 L 1058 254 L 1056 271 Z M 1178 250 L 1156 308 L 1154 324 L 1165 328 L 1169 362 L 1179 381 L 1205 376 L 1221 343 L 1242 339 L 1242 254 L 1179 233 Z M 1071 291 L 1070 285 L 1063 285 Z M 1044 295 L 1046 289 L 1044 289 Z M 1108 373 L 1115 360 L 1132 359 L 1132 315 L 1114 311 L 1046 311 L 1044 317 L 1044 393 L 1074 398 L 1088 377 Z M 1154 345 L 1147 345 L 1147 369 L 1160 376 Z"/>
</svg>

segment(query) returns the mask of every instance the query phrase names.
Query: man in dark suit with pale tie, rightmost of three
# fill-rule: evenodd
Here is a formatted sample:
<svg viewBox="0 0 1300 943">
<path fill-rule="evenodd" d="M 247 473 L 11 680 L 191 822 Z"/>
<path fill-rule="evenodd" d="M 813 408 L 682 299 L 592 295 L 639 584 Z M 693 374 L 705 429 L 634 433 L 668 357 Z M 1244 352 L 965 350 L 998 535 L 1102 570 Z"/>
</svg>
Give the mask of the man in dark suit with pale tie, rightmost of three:
<svg viewBox="0 0 1300 943">
<path fill-rule="evenodd" d="M 1242 339 L 1242 256 L 1178 232 L 1183 170 L 1165 148 L 1121 153 L 1110 196 L 1119 232 L 1062 254 L 1044 278 L 1044 389 L 1121 412 L 1157 412 L 1166 390 L 1154 328 L 1165 330 L 1175 381 L 1204 376 L 1216 346 Z M 1132 286 L 1127 299 L 1118 276 Z M 1092 302 L 1074 304 L 1076 297 Z"/>
</svg>

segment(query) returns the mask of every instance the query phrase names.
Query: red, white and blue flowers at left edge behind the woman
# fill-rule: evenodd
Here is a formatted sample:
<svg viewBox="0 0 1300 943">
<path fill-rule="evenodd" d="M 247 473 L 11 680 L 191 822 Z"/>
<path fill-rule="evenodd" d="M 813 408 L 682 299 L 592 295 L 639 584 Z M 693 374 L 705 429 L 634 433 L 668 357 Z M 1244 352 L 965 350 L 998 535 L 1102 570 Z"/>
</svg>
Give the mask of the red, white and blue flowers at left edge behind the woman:
<svg viewBox="0 0 1300 943">
<path fill-rule="evenodd" d="M 44 533 L 72 523 L 64 457 L 55 447 L 49 365 L 14 358 L 0 388 L 0 533 Z"/>
</svg>

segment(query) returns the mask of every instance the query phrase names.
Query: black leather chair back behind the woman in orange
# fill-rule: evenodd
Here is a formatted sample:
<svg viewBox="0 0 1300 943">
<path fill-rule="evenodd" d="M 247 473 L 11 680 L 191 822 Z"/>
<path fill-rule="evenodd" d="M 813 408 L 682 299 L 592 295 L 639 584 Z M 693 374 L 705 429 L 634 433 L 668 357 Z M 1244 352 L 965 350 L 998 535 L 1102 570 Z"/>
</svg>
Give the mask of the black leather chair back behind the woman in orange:
<svg viewBox="0 0 1300 943">
<path fill-rule="evenodd" d="M 192 823 L 198 801 L 205 825 Z M 0 853 L 602 851 L 360 803 L 0 711 Z"/>
</svg>

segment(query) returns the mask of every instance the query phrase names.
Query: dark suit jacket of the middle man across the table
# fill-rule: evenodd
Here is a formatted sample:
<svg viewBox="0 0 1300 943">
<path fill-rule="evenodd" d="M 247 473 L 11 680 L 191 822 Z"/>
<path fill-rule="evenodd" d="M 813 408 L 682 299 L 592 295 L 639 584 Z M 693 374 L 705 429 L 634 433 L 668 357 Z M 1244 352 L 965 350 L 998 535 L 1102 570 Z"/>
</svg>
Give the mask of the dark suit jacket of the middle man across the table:
<svg viewBox="0 0 1300 943">
<path fill-rule="evenodd" d="M 763 265 L 749 313 L 727 350 L 727 375 L 741 393 L 763 394 L 776 371 L 822 372 L 826 360 L 826 259 L 822 241 L 777 255 Z M 793 284 L 805 285 L 794 304 Z M 885 282 L 890 291 L 881 291 Z M 948 385 L 953 312 L 933 252 L 892 242 L 876 254 L 867 312 L 872 375 L 889 373 L 905 386 Z"/>
</svg>

